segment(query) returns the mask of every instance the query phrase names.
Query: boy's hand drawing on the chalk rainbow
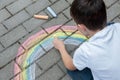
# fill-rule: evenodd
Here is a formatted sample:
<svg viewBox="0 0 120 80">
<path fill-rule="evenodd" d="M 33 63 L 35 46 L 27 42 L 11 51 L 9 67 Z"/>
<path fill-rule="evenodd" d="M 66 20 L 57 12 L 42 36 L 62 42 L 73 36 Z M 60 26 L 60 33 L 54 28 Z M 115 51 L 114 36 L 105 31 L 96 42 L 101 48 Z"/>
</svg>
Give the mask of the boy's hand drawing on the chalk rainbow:
<svg viewBox="0 0 120 80">
<path fill-rule="evenodd" d="M 58 50 L 65 49 L 64 42 L 62 40 L 58 39 L 57 37 L 54 37 L 53 44 L 54 44 L 54 47 Z"/>
</svg>

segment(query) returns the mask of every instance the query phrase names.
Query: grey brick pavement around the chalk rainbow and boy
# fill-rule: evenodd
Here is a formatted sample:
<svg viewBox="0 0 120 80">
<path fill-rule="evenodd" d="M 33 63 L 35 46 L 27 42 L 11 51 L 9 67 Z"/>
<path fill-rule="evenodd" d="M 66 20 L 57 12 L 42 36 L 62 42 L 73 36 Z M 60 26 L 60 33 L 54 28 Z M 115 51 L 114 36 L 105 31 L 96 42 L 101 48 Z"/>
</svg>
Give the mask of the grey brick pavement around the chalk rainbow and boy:
<svg viewBox="0 0 120 80">
<path fill-rule="evenodd" d="M 0 80 L 13 80 L 27 68 L 16 62 L 20 45 L 30 36 L 53 25 L 75 25 L 69 9 L 73 0 L 0 0 Z M 108 22 L 120 22 L 120 0 L 104 0 Z M 53 18 L 46 8 L 50 6 L 58 15 Z M 34 14 L 48 15 L 48 20 L 33 18 Z M 61 28 L 60 28 L 61 29 Z M 45 31 L 47 35 L 50 35 Z M 69 52 L 77 46 L 66 45 Z M 44 47 L 43 47 L 44 49 Z M 55 48 L 35 60 L 35 80 L 70 80 L 61 57 Z M 49 59 L 49 61 L 48 61 Z M 20 72 L 14 74 L 14 64 Z M 32 66 L 33 64 L 29 65 Z"/>
</svg>

